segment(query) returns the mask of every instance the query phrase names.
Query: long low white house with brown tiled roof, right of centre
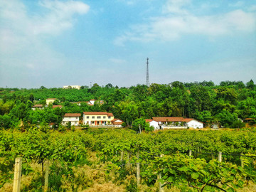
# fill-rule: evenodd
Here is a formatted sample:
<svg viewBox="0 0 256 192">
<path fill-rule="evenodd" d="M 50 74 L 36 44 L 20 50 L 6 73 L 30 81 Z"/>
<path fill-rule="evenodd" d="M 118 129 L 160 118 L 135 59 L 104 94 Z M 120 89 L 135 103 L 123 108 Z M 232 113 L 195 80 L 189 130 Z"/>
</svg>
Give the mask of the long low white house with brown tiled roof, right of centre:
<svg viewBox="0 0 256 192">
<path fill-rule="evenodd" d="M 183 117 L 152 117 L 158 122 L 160 129 L 186 129 L 186 128 L 203 128 L 203 122 L 196 119 Z"/>
</svg>

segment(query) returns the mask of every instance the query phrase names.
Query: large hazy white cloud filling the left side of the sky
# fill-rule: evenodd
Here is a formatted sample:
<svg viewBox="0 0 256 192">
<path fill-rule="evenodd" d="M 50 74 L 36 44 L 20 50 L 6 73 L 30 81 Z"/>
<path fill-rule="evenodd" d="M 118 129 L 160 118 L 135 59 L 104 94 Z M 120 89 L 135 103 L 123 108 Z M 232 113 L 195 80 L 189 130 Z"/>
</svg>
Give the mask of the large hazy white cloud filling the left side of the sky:
<svg viewBox="0 0 256 192">
<path fill-rule="evenodd" d="M 64 65 L 65 55 L 45 40 L 72 28 L 75 14 L 86 14 L 90 9 L 80 1 L 49 0 L 40 1 L 38 8 L 31 14 L 22 1 L 1 1 L 0 83 L 22 84 L 28 76 L 50 75 L 50 70 Z"/>
</svg>

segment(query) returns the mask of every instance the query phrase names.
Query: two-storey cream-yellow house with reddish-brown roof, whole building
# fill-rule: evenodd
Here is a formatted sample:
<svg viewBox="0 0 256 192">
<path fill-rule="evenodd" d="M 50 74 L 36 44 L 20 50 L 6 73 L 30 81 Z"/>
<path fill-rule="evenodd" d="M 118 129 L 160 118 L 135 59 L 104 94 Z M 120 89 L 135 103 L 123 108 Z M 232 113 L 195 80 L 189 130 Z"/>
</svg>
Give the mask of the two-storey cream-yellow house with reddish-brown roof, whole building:
<svg viewBox="0 0 256 192">
<path fill-rule="evenodd" d="M 106 126 L 112 124 L 114 115 L 110 112 L 83 112 L 83 124 Z"/>
</svg>

